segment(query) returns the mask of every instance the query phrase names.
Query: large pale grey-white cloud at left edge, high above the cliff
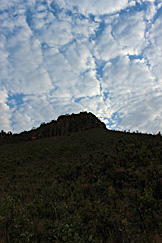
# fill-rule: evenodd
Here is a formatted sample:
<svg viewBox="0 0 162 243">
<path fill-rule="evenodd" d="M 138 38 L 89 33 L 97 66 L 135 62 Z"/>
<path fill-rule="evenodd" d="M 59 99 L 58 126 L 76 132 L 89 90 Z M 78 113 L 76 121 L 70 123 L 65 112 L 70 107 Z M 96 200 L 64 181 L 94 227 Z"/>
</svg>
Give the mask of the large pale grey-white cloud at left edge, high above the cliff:
<svg viewBox="0 0 162 243">
<path fill-rule="evenodd" d="M 1 56 L 1 80 L 5 80 L 3 86 L 8 91 L 17 93 L 48 91 L 52 84 L 43 64 L 39 40 L 28 28 L 25 16 L 16 17 L 13 24 L 12 35 L 7 37 L 2 34 L 4 48 Z"/>
</svg>

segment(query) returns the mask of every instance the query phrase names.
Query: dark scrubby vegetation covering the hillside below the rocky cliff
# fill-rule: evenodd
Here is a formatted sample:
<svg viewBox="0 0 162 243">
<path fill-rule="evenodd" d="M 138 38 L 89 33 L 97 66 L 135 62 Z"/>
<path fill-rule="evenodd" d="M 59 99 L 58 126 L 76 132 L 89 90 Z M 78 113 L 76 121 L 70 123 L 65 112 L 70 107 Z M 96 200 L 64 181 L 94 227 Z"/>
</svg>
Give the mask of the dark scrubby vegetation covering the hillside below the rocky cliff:
<svg viewBox="0 0 162 243">
<path fill-rule="evenodd" d="M 75 132 L 1 139 L 0 242 L 162 242 L 161 135 L 84 115 Z"/>
</svg>

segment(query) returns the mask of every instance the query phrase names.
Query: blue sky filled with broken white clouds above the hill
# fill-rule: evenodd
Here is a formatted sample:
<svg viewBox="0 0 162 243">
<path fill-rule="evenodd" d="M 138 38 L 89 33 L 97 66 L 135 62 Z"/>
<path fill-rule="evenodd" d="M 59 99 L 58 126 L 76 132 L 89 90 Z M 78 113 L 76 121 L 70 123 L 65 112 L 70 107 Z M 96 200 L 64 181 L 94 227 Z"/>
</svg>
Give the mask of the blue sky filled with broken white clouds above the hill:
<svg viewBox="0 0 162 243">
<path fill-rule="evenodd" d="M 162 0 L 0 0 L 0 130 L 92 112 L 162 131 Z"/>
</svg>

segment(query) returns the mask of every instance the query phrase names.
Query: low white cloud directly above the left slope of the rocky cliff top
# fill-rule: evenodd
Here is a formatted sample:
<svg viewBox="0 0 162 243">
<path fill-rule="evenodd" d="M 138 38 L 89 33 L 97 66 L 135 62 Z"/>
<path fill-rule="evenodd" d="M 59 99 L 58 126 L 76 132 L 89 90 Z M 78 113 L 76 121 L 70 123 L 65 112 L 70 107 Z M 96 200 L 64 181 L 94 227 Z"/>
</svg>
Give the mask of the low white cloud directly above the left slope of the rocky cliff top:
<svg viewBox="0 0 162 243">
<path fill-rule="evenodd" d="M 38 127 L 42 122 L 57 119 L 59 115 L 78 113 L 82 110 L 80 104 L 71 98 L 54 98 L 50 95 L 29 95 L 23 98 L 23 103 L 12 114 L 13 129 L 16 132 Z"/>
</svg>

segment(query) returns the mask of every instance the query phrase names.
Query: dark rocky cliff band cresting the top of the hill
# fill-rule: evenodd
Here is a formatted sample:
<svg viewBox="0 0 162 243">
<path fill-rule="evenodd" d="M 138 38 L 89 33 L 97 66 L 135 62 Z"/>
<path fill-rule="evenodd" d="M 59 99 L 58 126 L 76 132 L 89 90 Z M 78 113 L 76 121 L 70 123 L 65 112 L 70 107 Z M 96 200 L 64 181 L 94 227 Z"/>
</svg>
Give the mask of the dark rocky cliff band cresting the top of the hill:
<svg viewBox="0 0 162 243">
<path fill-rule="evenodd" d="M 12 132 L 5 133 L 4 131 L 1 131 L 0 144 L 15 141 L 35 140 L 43 137 L 63 136 L 92 128 L 106 129 L 106 125 L 90 112 L 62 115 L 59 116 L 57 120 L 53 120 L 49 123 L 42 123 L 40 127 L 34 128 L 28 132 L 25 131 L 20 134 L 12 134 Z"/>
</svg>

